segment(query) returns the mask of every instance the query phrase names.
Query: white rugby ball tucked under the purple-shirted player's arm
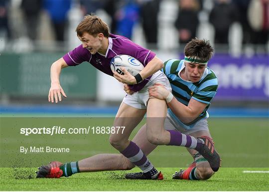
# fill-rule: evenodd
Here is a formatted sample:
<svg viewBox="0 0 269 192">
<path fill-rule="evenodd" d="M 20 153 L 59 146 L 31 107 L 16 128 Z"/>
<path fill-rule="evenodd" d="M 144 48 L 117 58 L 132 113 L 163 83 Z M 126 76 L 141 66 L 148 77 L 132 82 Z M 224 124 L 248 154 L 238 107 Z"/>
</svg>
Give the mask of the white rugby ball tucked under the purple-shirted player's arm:
<svg viewBox="0 0 269 192">
<path fill-rule="evenodd" d="M 125 67 L 125 69 L 133 76 L 137 75 L 137 73 L 144 68 L 140 61 L 130 55 L 117 55 L 111 60 L 110 68 L 112 71 L 124 75 L 121 67 Z"/>
</svg>

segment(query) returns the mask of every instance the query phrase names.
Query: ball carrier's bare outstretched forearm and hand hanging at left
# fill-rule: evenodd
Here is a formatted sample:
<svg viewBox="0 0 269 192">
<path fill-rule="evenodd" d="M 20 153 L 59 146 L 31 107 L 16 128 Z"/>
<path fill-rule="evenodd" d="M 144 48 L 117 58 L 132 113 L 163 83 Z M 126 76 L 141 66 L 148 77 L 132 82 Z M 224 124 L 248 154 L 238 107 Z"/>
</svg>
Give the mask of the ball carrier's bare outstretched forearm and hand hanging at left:
<svg viewBox="0 0 269 192">
<path fill-rule="evenodd" d="M 62 89 L 60 85 L 60 73 L 62 68 L 67 67 L 65 60 L 63 58 L 60 58 L 59 60 L 55 61 L 51 67 L 50 67 L 50 80 L 51 80 L 51 86 L 49 89 L 48 94 L 48 101 L 51 103 L 58 103 L 59 101 L 62 101 L 61 94 L 64 97 L 67 97 L 64 93 L 64 90 Z"/>
</svg>

